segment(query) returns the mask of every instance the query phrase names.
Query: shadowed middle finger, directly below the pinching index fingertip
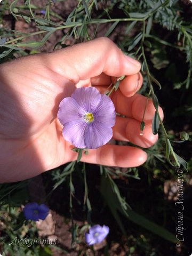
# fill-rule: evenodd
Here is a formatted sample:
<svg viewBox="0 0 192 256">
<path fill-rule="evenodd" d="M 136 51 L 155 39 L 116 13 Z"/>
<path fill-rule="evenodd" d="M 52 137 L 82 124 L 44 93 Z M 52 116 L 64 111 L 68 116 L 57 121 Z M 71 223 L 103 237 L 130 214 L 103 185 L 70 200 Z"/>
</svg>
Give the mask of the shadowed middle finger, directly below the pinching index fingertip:
<svg viewBox="0 0 192 256">
<path fill-rule="evenodd" d="M 144 122 L 146 124 L 151 124 L 153 116 L 155 114 L 155 107 L 151 99 L 148 99 L 145 96 L 140 94 L 135 94 L 131 98 L 125 97 L 123 93 L 118 90 L 113 94 L 112 100 L 115 105 L 116 112 L 125 115 L 126 117 L 142 121 L 143 113 L 146 112 L 144 116 Z M 161 107 L 158 108 L 159 114 L 163 119 L 163 110 Z"/>
</svg>

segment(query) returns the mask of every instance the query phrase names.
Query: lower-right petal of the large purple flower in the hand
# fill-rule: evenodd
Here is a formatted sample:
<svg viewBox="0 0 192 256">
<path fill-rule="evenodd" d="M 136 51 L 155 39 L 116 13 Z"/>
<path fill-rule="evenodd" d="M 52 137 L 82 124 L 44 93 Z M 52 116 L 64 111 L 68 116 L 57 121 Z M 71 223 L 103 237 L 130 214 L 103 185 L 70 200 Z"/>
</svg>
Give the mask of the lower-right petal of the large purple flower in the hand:
<svg viewBox="0 0 192 256">
<path fill-rule="evenodd" d="M 87 124 L 84 132 L 85 146 L 89 149 L 96 149 L 105 145 L 113 135 L 111 127 L 100 122 L 93 121 Z"/>
</svg>

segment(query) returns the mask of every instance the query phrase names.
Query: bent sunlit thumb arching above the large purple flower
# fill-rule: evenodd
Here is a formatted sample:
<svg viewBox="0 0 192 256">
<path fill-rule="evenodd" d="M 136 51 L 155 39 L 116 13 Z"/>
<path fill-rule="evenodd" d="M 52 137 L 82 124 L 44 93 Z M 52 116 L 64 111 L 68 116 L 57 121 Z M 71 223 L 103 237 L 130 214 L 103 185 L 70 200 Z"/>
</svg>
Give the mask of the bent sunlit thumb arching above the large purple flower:
<svg viewBox="0 0 192 256">
<path fill-rule="evenodd" d="M 101 73 L 114 77 L 137 74 L 141 67 L 106 37 L 55 51 L 46 58 L 52 70 L 75 83 Z"/>
</svg>

